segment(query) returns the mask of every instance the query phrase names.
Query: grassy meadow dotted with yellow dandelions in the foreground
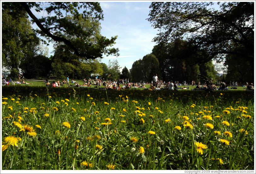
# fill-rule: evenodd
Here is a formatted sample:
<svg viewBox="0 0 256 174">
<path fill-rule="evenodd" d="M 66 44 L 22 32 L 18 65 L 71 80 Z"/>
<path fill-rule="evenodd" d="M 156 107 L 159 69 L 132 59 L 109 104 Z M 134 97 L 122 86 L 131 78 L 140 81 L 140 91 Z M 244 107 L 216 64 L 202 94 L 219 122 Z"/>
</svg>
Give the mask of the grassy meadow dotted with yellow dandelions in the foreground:
<svg viewBox="0 0 256 174">
<path fill-rule="evenodd" d="M 254 91 L 2 86 L 3 170 L 254 170 Z"/>
</svg>

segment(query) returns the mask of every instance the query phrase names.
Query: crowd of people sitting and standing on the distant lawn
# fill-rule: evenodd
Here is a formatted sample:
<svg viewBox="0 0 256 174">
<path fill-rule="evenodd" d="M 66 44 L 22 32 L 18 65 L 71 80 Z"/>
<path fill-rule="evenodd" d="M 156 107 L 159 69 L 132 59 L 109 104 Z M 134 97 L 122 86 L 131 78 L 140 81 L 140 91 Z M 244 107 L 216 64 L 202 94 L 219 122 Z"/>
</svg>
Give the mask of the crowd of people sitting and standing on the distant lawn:
<svg viewBox="0 0 256 174">
<path fill-rule="evenodd" d="M 70 83 L 69 83 L 70 81 Z M 67 79 L 63 80 L 63 82 L 60 82 L 59 80 L 53 81 L 52 83 L 49 83 L 49 81 L 46 79 L 45 84 L 48 86 L 58 87 L 66 84 L 70 87 L 89 87 L 91 85 L 94 85 L 95 88 L 105 88 L 109 90 L 124 90 L 124 89 L 132 89 L 132 88 L 144 88 L 145 90 L 189 90 L 189 86 L 191 90 L 228 90 L 230 89 L 237 89 L 238 86 L 246 87 L 246 90 L 254 90 L 253 84 L 239 84 L 237 82 L 231 82 L 230 84 L 226 84 L 225 82 L 215 82 L 213 83 L 212 79 L 210 80 L 203 80 L 202 83 L 192 81 L 191 83 L 187 83 L 186 81 L 183 81 L 182 83 L 178 81 L 169 81 L 165 82 L 162 80 L 159 80 L 157 77 L 157 74 L 155 74 L 152 78 L 151 82 L 144 82 L 141 80 L 138 83 L 132 83 L 129 82 L 129 79 L 118 79 L 118 80 L 105 80 L 105 79 L 99 79 L 96 77 L 95 79 L 89 78 L 88 80 L 84 78 L 83 84 L 79 84 L 79 82 L 69 79 L 69 76 L 67 76 Z M 150 84 L 149 88 L 146 88 L 145 85 Z M 103 87 L 102 87 L 103 86 Z M 179 87 L 180 86 L 180 87 Z M 183 86 L 183 87 L 182 87 Z M 187 87 L 186 87 L 187 86 Z M 218 87 L 219 86 L 219 87 Z"/>
</svg>

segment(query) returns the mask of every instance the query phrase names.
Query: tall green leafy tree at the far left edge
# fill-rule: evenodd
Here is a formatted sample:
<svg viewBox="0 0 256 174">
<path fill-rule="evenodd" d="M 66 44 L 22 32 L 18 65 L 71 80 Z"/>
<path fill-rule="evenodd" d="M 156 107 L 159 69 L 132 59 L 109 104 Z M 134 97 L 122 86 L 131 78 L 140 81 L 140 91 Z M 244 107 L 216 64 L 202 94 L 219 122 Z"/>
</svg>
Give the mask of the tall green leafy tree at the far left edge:
<svg viewBox="0 0 256 174">
<path fill-rule="evenodd" d="M 39 44 L 24 10 L 13 8 L 12 3 L 3 3 L 2 63 L 10 70 L 11 77 L 18 76 L 20 63 L 26 61 L 27 56 L 34 56 Z"/>
</svg>

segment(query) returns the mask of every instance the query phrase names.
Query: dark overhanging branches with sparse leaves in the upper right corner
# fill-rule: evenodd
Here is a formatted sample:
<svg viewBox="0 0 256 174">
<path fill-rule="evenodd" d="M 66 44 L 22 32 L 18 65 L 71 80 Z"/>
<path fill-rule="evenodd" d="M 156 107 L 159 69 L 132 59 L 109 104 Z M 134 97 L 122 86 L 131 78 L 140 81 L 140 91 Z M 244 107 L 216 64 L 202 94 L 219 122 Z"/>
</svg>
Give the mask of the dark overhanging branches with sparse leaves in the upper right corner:
<svg viewBox="0 0 256 174">
<path fill-rule="evenodd" d="M 155 42 L 181 38 L 207 50 L 204 62 L 223 61 L 230 54 L 241 56 L 253 67 L 253 2 L 152 2 L 149 8 L 148 21 L 160 31 Z"/>
</svg>

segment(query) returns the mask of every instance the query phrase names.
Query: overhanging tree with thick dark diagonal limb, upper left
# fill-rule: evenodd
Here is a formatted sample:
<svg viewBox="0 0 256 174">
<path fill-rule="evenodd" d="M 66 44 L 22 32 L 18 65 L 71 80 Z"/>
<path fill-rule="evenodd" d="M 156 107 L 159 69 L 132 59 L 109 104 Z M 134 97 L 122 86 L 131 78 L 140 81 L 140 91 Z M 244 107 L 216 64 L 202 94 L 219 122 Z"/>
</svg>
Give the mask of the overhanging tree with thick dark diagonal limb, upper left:
<svg viewBox="0 0 256 174">
<path fill-rule="evenodd" d="M 96 35 L 93 28 L 84 30 L 84 26 L 77 21 L 88 19 L 99 22 L 103 20 L 103 11 L 98 2 L 20 2 L 15 3 L 17 9 L 25 9 L 32 18 L 32 22 L 39 27 L 36 31 L 49 41 L 67 45 L 73 54 L 85 60 L 103 58 L 102 55 L 119 55 L 118 49 L 109 48 L 115 44 L 117 36 L 108 39 Z M 38 19 L 31 11 L 44 12 L 47 15 Z M 82 13 L 80 10 L 84 9 Z M 55 14 L 55 15 L 53 15 Z M 69 17 L 67 17 L 69 15 Z M 93 37 L 94 42 L 91 42 Z"/>
</svg>

